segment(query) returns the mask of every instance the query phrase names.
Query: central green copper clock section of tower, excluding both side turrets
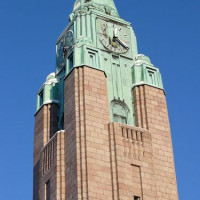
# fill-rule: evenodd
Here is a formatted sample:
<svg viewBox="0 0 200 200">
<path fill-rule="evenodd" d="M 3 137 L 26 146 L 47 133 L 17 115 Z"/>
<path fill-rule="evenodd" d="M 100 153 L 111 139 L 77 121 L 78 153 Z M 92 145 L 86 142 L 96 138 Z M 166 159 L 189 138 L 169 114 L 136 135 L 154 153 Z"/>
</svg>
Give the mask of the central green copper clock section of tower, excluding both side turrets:
<svg viewBox="0 0 200 200">
<path fill-rule="evenodd" d="M 69 18 L 57 41 L 58 76 L 84 65 L 104 71 L 111 121 L 134 125 L 132 95 L 126 92 L 132 87 L 131 67 L 138 54 L 131 24 L 119 18 L 113 0 L 78 0 Z"/>
</svg>

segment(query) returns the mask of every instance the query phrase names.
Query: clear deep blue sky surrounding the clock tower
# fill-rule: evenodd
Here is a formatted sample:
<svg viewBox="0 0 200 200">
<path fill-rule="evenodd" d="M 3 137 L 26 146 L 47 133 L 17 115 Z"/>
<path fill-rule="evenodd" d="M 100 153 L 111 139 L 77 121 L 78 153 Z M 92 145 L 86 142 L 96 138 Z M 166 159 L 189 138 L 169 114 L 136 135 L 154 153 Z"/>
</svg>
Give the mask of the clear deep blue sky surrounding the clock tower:
<svg viewBox="0 0 200 200">
<path fill-rule="evenodd" d="M 32 199 L 36 93 L 75 0 L 0 0 L 0 199 Z M 160 68 L 180 200 L 200 197 L 200 1 L 115 0 Z"/>
</svg>

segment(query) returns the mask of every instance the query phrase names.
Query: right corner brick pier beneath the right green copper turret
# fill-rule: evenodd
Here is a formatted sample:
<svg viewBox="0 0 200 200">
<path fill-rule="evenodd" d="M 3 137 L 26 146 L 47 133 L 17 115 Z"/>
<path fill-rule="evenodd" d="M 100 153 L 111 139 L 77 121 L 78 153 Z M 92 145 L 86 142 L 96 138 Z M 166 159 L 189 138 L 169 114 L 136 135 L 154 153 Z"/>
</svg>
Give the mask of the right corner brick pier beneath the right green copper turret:
<svg viewBox="0 0 200 200">
<path fill-rule="evenodd" d="M 177 183 L 164 91 L 143 85 L 133 89 L 136 125 L 151 135 L 157 199 L 177 200 Z"/>
</svg>

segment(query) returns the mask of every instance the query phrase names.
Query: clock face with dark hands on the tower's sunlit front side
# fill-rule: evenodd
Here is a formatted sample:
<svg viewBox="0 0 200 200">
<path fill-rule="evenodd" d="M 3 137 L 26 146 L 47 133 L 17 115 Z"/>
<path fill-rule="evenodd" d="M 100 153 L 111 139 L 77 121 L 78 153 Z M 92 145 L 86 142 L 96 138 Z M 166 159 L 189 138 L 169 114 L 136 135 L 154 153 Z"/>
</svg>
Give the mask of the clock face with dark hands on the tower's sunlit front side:
<svg viewBox="0 0 200 200">
<path fill-rule="evenodd" d="M 103 22 L 98 34 L 103 46 L 111 52 L 123 54 L 130 49 L 129 29 L 124 26 Z"/>
</svg>

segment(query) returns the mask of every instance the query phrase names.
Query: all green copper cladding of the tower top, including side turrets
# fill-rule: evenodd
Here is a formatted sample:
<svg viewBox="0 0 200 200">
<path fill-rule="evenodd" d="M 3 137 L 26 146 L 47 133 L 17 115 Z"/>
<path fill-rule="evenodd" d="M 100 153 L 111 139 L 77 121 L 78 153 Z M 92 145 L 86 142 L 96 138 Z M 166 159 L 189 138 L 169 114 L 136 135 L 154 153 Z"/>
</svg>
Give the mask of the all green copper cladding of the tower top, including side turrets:
<svg viewBox="0 0 200 200">
<path fill-rule="evenodd" d="M 88 66 L 106 74 L 110 120 L 134 126 L 131 90 L 144 84 L 163 89 L 159 69 L 147 56 L 138 55 L 134 30 L 119 17 L 113 0 L 77 0 L 69 18 L 56 44 L 56 74 L 39 91 L 37 109 L 48 102 L 59 103 L 58 127 L 62 129 L 65 78 L 73 68 Z M 121 53 L 118 47 L 114 49 L 116 38 L 118 46 L 125 44 L 128 49 Z M 110 41 L 114 46 L 109 49 Z"/>
</svg>

